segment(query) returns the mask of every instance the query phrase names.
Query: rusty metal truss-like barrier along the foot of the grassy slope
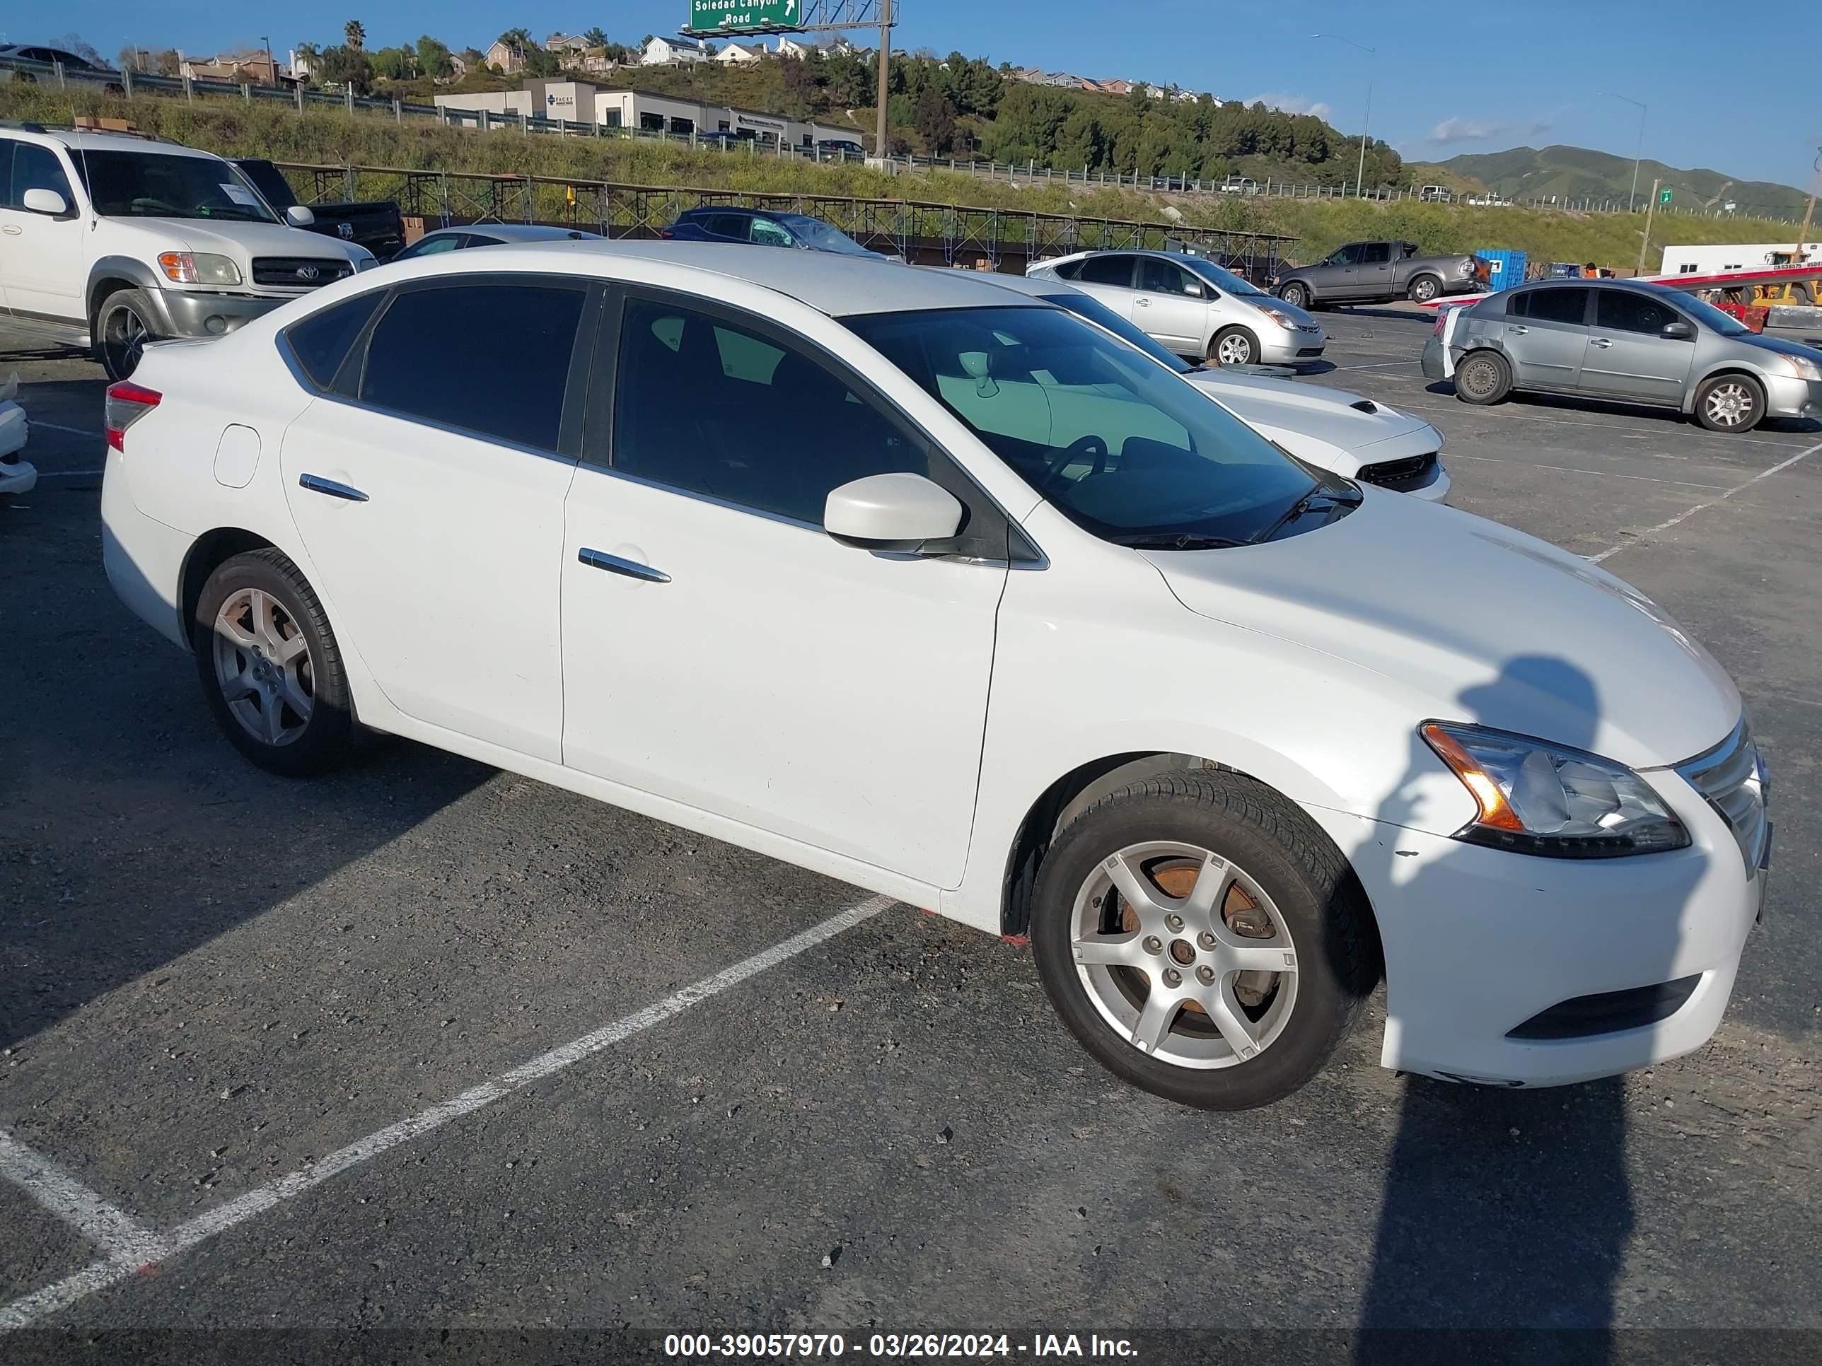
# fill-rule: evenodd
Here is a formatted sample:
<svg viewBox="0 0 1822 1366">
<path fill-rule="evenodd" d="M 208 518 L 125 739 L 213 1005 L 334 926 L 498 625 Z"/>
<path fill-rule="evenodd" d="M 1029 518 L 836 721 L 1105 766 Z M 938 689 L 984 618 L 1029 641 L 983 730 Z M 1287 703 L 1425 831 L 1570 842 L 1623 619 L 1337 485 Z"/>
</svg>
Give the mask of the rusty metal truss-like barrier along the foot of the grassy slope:
<svg viewBox="0 0 1822 1366">
<path fill-rule="evenodd" d="M 703 204 L 769 208 L 833 222 L 855 240 L 907 260 L 988 270 L 1091 248 L 1190 248 L 1250 277 L 1270 275 L 1295 237 L 1075 213 L 967 208 L 856 195 L 636 186 L 543 175 L 426 171 L 395 166 L 279 162 L 299 200 L 390 199 L 426 228 L 554 222 L 603 237 L 656 237 Z"/>
</svg>

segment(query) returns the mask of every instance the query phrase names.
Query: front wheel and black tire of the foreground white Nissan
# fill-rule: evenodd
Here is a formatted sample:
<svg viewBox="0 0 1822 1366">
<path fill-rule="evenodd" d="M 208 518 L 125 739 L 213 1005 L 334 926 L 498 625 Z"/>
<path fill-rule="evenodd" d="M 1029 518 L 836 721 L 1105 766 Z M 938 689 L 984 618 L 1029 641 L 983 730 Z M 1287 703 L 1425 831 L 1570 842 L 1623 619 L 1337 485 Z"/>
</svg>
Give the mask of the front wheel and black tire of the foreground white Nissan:
<svg viewBox="0 0 1822 1366">
<path fill-rule="evenodd" d="M 1217 907 L 1195 898 L 1204 876 Z M 1097 1062 L 1199 1109 L 1294 1093 L 1379 978 L 1372 911 L 1341 851 L 1295 803 L 1213 769 L 1159 772 L 1068 823 L 1039 869 L 1031 953 Z M 1155 1011 L 1153 991 L 1168 993 Z"/>
</svg>

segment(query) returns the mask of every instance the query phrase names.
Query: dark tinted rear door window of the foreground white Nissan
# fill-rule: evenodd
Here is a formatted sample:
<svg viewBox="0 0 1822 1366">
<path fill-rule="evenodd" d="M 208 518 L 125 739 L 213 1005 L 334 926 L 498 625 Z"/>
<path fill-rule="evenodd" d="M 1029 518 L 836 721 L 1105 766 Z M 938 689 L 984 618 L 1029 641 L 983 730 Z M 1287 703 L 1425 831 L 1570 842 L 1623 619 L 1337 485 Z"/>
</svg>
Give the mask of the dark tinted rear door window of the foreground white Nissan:
<svg viewBox="0 0 1822 1366">
<path fill-rule="evenodd" d="M 406 290 L 374 326 L 361 401 L 554 452 L 583 299 L 583 290 L 565 284 Z M 508 344 L 450 344 L 479 331 Z"/>
</svg>

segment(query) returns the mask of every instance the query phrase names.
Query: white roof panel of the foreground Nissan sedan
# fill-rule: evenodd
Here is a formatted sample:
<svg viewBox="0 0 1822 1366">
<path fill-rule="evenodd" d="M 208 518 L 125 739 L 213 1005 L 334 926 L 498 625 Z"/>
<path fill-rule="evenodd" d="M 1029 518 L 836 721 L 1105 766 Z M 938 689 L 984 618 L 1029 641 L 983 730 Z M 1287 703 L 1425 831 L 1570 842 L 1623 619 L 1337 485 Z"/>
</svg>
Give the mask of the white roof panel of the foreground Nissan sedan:
<svg viewBox="0 0 1822 1366">
<path fill-rule="evenodd" d="M 466 257 L 466 260 L 465 260 Z M 829 317 L 913 313 L 933 308 L 1037 308 L 971 270 L 924 271 L 891 260 L 831 251 L 765 251 L 738 242 L 647 240 L 508 242 L 492 251 L 450 251 L 403 262 L 414 279 L 466 271 L 572 271 L 627 279 L 623 266 L 652 262 L 720 275 L 789 295 Z M 403 279 L 403 275 L 401 275 Z M 636 279 L 636 277 L 634 277 Z"/>
</svg>

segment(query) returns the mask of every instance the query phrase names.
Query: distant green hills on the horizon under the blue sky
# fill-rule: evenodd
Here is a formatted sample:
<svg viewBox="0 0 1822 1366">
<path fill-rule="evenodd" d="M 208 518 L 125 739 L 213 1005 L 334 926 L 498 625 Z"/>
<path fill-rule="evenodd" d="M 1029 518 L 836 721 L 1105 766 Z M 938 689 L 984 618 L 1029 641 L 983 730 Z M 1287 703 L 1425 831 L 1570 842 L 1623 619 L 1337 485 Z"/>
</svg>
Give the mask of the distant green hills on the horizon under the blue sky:
<svg viewBox="0 0 1822 1366">
<path fill-rule="evenodd" d="M 1512 148 L 1510 151 L 1465 153 L 1438 162 L 1448 175 L 1476 180 L 1496 195 L 1514 199 L 1625 199 L 1633 188 L 1633 162 L 1589 148 Z M 1653 178 L 1662 178 L 1674 193 L 1678 208 L 1720 208 L 1735 202 L 1740 215 L 1767 219 L 1804 217 L 1809 195 L 1769 180 L 1731 180 L 1720 171 L 1682 171 L 1663 162 L 1638 168 L 1640 204 L 1651 193 Z"/>
</svg>

